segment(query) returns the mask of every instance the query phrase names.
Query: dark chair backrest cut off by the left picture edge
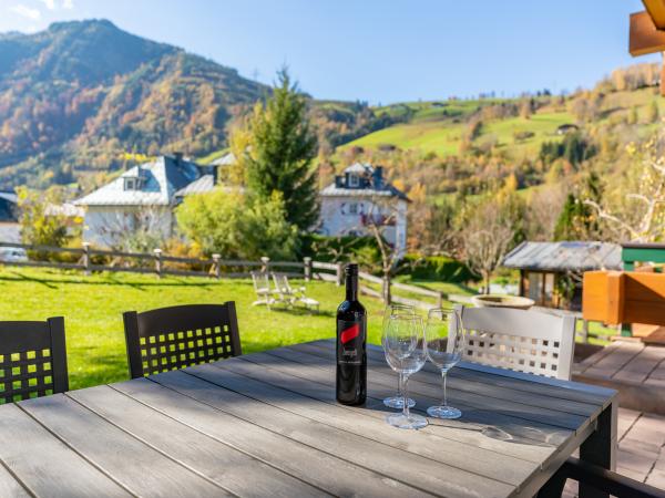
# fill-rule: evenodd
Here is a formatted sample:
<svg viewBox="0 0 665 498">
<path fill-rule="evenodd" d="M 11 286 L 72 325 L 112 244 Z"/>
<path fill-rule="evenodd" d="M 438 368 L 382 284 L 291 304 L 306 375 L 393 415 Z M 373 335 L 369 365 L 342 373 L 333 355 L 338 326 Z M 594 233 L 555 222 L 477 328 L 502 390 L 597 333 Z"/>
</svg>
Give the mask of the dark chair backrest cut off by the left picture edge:
<svg viewBox="0 0 665 498">
<path fill-rule="evenodd" d="M 11 403 L 68 390 L 63 318 L 0 322 L 0 397 Z"/>
</svg>

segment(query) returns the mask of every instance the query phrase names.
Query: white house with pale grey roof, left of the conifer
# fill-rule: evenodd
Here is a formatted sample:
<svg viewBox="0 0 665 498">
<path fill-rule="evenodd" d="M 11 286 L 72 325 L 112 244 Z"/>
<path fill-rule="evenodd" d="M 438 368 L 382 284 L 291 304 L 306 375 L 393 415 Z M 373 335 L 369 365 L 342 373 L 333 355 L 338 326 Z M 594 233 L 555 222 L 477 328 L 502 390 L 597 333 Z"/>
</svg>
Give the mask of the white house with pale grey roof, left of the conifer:
<svg viewBox="0 0 665 498">
<path fill-rule="evenodd" d="M 74 201 L 85 208 L 83 239 L 111 247 L 139 224 L 168 237 L 175 225 L 173 208 L 186 195 L 212 190 L 215 179 L 215 167 L 200 166 L 182 154 L 134 166 Z"/>
</svg>

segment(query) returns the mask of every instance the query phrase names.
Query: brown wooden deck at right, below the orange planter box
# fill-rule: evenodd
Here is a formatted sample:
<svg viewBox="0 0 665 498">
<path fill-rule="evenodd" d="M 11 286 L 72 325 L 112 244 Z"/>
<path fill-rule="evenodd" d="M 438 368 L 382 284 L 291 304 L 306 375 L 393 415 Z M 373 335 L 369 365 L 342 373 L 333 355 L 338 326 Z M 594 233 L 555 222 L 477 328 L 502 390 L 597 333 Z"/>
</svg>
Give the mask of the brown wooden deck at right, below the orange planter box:
<svg viewBox="0 0 665 498">
<path fill-rule="evenodd" d="M 616 341 L 573 366 L 573 378 L 620 392 L 620 406 L 665 415 L 665 347 Z"/>
</svg>

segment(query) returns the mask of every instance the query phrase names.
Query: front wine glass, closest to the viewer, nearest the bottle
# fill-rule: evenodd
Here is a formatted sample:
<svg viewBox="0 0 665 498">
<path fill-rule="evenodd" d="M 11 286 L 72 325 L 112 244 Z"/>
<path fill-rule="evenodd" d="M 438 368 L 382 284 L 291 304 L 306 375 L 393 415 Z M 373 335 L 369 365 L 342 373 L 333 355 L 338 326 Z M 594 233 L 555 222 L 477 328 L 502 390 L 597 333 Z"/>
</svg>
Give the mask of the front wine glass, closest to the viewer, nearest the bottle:
<svg viewBox="0 0 665 498">
<path fill-rule="evenodd" d="M 393 314 L 388 318 L 383 334 L 386 361 L 402 378 L 402 412 L 386 417 L 388 424 L 418 429 L 427 425 L 427 418 L 409 412 L 409 376 L 418 372 L 427 361 L 422 319 L 417 315 Z"/>
</svg>

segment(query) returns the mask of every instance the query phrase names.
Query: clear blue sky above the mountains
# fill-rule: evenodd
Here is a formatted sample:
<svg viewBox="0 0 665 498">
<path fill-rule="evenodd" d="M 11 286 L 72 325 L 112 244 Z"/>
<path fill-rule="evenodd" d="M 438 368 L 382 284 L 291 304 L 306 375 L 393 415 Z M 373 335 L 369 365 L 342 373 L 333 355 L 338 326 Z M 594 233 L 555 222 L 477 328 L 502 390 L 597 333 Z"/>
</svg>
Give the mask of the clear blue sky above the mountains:
<svg viewBox="0 0 665 498">
<path fill-rule="evenodd" d="M 109 19 L 317 98 L 371 104 L 590 87 L 627 53 L 640 0 L 0 0 L 0 32 Z"/>
</svg>

